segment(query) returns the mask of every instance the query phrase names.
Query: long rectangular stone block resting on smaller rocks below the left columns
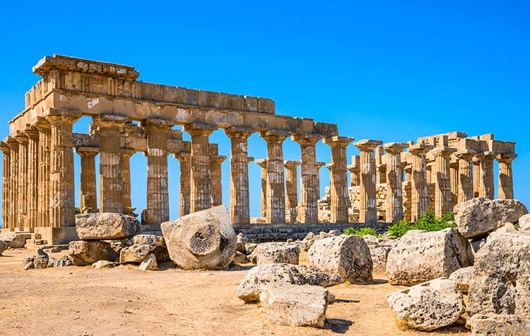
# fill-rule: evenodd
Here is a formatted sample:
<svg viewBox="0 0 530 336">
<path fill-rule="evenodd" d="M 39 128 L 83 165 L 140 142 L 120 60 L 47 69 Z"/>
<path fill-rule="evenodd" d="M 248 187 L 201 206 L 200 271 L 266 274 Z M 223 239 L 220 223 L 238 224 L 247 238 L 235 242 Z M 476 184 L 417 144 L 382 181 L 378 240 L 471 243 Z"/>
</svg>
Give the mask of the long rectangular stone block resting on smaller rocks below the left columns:
<svg viewBox="0 0 530 336">
<path fill-rule="evenodd" d="M 76 215 L 76 232 L 81 240 L 121 239 L 141 233 L 135 217 L 103 212 Z"/>
</svg>

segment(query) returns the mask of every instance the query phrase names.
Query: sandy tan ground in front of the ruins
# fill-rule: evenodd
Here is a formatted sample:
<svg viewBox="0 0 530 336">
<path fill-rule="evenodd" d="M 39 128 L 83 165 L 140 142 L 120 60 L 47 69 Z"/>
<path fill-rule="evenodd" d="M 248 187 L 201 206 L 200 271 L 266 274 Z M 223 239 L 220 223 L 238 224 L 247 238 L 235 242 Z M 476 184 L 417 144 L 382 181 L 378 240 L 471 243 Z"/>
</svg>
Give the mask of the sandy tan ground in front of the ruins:
<svg viewBox="0 0 530 336">
<path fill-rule="evenodd" d="M 65 252 L 51 256 L 61 256 Z M 30 250 L 0 256 L 2 335 L 468 335 L 464 328 L 437 332 L 401 330 L 387 306 L 391 286 L 330 287 L 336 295 L 326 328 L 276 326 L 258 304 L 237 299 L 236 289 L 252 266 L 223 271 L 141 272 L 131 265 L 22 270 Z M 301 256 L 303 263 L 304 256 Z"/>
</svg>

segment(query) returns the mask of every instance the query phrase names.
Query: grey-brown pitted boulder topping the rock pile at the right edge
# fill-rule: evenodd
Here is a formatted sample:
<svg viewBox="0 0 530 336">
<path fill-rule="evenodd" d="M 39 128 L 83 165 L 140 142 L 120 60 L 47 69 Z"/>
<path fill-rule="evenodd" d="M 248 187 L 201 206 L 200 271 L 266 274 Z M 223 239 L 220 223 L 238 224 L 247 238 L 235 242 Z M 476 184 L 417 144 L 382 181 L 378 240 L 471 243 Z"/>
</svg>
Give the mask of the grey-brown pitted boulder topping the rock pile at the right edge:
<svg viewBox="0 0 530 336">
<path fill-rule="evenodd" d="M 528 213 L 519 200 L 490 200 L 473 198 L 454 207 L 454 221 L 458 231 L 466 238 L 487 234 L 505 223 L 517 223 Z"/>
</svg>

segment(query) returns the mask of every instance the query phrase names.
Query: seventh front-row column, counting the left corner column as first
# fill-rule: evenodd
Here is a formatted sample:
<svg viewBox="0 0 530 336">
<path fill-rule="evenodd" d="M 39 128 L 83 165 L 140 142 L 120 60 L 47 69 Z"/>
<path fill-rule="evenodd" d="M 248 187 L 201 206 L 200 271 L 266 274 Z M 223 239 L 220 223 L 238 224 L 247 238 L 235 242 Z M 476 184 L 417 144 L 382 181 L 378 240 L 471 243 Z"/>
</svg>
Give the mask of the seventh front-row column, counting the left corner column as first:
<svg viewBox="0 0 530 336">
<path fill-rule="evenodd" d="M 317 223 L 319 220 L 319 171 L 315 145 L 320 137 L 314 134 L 296 134 L 291 139 L 300 145 L 300 204 L 297 210 L 297 220 L 300 223 Z"/>
</svg>

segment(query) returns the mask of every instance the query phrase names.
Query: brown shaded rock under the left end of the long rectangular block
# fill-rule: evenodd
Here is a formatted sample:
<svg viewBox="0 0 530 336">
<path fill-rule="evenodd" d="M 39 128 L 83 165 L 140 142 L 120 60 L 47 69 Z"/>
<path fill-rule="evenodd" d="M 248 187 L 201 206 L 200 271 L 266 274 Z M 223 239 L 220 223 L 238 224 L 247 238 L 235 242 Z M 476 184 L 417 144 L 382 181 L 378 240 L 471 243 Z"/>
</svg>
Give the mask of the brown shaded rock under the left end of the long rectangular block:
<svg viewBox="0 0 530 336">
<path fill-rule="evenodd" d="M 116 260 L 116 252 L 106 241 L 71 241 L 68 246 L 73 265 L 92 265 L 98 260 Z"/>
</svg>

